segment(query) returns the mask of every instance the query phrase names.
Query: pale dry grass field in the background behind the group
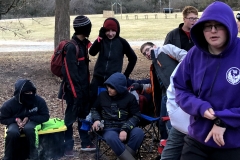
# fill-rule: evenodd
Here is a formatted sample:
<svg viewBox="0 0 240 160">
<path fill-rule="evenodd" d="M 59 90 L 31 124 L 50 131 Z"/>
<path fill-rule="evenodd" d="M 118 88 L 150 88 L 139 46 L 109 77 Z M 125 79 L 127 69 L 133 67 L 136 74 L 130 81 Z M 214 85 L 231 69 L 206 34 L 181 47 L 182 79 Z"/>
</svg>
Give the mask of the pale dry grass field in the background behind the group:
<svg viewBox="0 0 240 160">
<path fill-rule="evenodd" d="M 155 15 L 157 14 L 157 18 Z M 201 17 L 202 12 L 199 12 Z M 237 14 L 237 11 L 234 12 Z M 135 19 L 135 15 L 138 19 Z M 145 19 L 145 15 L 148 19 Z M 94 41 L 98 36 L 98 31 L 102 26 L 104 20 L 102 14 L 87 15 L 92 22 L 92 32 L 89 39 Z M 126 19 L 128 16 L 129 19 Z M 72 21 L 76 16 L 71 16 L 70 28 L 71 35 L 73 34 Z M 140 40 L 164 40 L 166 34 L 178 27 L 183 22 L 182 13 L 131 13 L 131 14 L 117 14 L 115 18 L 118 19 L 121 31 L 120 35 L 128 41 L 140 41 Z M 25 18 L 20 20 L 1 20 L 1 27 L 11 28 L 18 30 L 24 34 L 26 40 L 30 41 L 53 41 L 54 39 L 54 17 L 41 17 L 41 18 Z M 23 24 L 23 25 L 22 25 Z M 25 30 L 21 29 L 21 25 L 24 26 Z M 26 33 L 28 31 L 28 33 Z M 14 33 L 2 30 L 0 34 L 0 40 L 21 40 L 15 36 Z"/>
</svg>

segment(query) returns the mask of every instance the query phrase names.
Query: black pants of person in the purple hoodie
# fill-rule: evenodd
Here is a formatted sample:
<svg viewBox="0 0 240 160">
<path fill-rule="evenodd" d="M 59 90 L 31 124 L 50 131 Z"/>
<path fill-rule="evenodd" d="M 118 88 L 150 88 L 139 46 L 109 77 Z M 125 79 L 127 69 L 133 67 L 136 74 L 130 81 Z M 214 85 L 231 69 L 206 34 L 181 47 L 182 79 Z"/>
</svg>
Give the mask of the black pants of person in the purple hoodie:
<svg viewBox="0 0 240 160">
<path fill-rule="evenodd" d="M 234 137 L 232 137 L 234 138 Z M 190 136 L 185 136 L 181 160 L 239 160 L 240 148 L 208 147 Z"/>
</svg>

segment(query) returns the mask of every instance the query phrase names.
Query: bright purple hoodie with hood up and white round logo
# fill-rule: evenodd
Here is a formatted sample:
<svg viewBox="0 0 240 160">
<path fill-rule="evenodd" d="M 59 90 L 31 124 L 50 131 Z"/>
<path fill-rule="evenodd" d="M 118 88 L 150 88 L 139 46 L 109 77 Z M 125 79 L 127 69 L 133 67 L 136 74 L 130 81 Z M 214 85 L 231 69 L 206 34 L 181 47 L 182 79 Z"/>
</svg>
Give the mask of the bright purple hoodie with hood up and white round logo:
<svg viewBox="0 0 240 160">
<path fill-rule="evenodd" d="M 219 55 L 208 51 L 203 35 L 203 23 L 215 20 L 228 31 L 226 48 Z M 215 148 L 240 147 L 240 39 L 232 9 L 215 1 L 204 11 L 191 29 L 195 46 L 179 66 L 174 77 L 176 102 L 191 115 L 188 132 L 197 141 Z M 225 145 L 219 147 L 211 138 L 204 142 L 213 121 L 203 117 L 213 108 L 215 116 L 226 125 Z"/>
</svg>

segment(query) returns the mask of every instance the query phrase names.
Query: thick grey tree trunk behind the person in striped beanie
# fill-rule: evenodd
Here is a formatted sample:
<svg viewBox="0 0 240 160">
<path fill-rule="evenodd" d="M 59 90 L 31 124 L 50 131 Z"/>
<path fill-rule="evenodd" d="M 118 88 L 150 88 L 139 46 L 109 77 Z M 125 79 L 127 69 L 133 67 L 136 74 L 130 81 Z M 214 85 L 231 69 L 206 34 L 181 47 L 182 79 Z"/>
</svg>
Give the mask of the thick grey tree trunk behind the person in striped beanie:
<svg viewBox="0 0 240 160">
<path fill-rule="evenodd" d="M 61 40 L 70 39 L 70 0 L 55 0 L 54 48 Z"/>
</svg>

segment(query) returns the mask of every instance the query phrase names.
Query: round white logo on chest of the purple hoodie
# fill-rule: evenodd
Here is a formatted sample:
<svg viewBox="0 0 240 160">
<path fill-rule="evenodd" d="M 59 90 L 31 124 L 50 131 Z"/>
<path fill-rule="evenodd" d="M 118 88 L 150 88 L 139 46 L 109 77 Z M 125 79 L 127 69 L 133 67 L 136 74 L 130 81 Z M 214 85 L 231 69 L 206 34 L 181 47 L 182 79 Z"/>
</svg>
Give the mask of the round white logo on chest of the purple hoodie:
<svg viewBox="0 0 240 160">
<path fill-rule="evenodd" d="M 240 82 L 240 70 L 237 67 L 231 67 L 226 73 L 227 81 L 232 85 L 237 85 Z"/>
</svg>

